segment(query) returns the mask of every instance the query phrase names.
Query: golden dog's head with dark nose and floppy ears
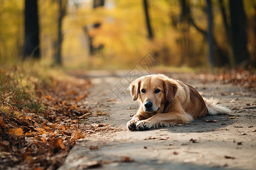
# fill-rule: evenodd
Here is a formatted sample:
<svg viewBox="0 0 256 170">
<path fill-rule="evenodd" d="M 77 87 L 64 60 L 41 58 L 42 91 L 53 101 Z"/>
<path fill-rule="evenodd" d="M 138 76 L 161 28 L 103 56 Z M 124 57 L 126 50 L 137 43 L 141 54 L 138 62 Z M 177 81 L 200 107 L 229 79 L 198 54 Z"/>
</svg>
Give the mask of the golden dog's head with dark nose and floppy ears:
<svg viewBox="0 0 256 170">
<path fill-rule="evenodd" d="M 177 91 L 175 82 L 165 75 L 146 75 L 130 84 L 133 100 L 139 99 L 144 112 L 157 112 L 161 104 L 172 103 Z"/>
</svg>

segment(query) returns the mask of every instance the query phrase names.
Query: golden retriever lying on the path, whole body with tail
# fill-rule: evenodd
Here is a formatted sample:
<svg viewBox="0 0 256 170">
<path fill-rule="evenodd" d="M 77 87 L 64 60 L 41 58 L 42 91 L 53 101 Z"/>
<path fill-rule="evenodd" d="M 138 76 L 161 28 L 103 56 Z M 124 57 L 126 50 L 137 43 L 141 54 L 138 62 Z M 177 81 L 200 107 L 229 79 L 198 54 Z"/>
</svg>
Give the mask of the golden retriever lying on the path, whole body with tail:
<svg viewBox="0 0 256 170">
<path fill-rule="evenodd" d="M 127 122 L 129 130 L 149 130 L 187 124 L 209 115 L 229 113 L 216 100 L 203 99 L 195 88 L 166 75 L 146 75 L 130 84 L 133 100 L 139 100 L 138 112 Z"/>
</svg>

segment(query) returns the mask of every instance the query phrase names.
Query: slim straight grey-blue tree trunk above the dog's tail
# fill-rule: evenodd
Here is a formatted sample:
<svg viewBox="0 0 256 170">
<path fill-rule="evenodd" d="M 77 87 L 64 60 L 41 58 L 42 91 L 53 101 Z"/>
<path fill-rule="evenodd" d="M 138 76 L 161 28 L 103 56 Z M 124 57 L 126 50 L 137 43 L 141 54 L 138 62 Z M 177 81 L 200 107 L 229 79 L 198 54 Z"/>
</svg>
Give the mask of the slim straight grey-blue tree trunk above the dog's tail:
<svg viewBox="0 0 256 170">
<path fill-rule="evenodd" d="M 209 62 L 212 67 L 215 66 L 214 55 L 213 55 L 213 15 L 212 15 L 212 2 L 207 0 L 207 17 L 208 17 L 208 31 L 207 31 L 207 39 L 208 39 L 208 56 Z"/>
</svg>

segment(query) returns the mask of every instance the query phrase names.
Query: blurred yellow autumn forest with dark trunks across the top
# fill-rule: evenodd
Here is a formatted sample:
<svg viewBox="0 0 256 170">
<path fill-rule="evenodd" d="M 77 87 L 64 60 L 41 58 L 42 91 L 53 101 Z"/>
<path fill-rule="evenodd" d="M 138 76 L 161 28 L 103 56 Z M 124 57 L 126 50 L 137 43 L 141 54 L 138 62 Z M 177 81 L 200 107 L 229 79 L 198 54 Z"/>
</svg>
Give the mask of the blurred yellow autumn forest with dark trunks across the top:
<svg viewBox="0 0 256 170">
<path fill-rule="evenodd" d="M 80 69 L 256 66 L 255 0 L 0 0 L 0 62 Z"/>
</svg>

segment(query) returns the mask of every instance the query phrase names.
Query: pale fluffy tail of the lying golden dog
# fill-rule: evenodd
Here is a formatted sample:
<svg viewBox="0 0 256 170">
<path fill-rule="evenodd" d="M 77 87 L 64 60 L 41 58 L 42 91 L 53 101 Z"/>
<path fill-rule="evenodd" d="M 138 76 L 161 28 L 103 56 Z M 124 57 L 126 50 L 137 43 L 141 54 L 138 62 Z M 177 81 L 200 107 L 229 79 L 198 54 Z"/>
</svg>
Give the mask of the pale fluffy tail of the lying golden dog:
<svg viewBox="0 0 256 170">
<path fill-rule="evenodd" d="M 210 99 L 205 99 L 205 98 L 203 99 L 205 104 L 207 105 L 208 114 L 210 115 L 225 114 L 225 113 L 231 112 L 229 108 L 225 108 L 217 104 L 218 100 L 214 100 L 213 96 L 210 97 Z"/>
</svg>

